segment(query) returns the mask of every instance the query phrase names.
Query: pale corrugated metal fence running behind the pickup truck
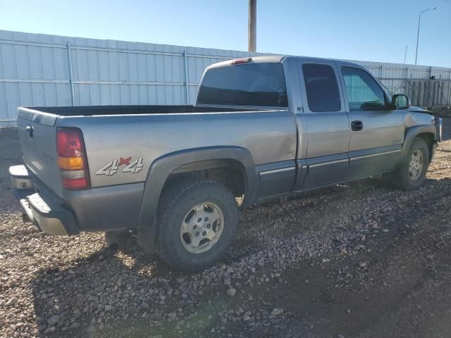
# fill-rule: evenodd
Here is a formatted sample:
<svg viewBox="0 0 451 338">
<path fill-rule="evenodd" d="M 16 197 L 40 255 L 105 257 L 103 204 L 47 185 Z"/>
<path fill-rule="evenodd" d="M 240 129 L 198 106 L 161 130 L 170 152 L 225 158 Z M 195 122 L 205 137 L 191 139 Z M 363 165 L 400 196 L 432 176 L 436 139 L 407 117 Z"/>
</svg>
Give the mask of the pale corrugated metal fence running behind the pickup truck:
<svg viewBox="0 0 451 338">
<path fill-rule="evenodd" d="M 193 104 L 207 65 L 255 55 L 0 30 L 0 126 L 18 106 Z M 450 104 L 450 68 L 354 62 L 414 104 Z"/>
</svg>

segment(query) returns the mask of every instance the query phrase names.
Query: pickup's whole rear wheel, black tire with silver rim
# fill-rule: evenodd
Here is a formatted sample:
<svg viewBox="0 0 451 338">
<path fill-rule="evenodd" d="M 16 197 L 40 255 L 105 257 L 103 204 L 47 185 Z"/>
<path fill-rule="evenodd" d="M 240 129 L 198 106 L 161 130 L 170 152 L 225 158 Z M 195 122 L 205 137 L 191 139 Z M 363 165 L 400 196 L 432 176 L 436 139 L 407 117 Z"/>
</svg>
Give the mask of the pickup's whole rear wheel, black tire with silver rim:
<svg viewBox="0 0 451 338">
<path fill-rule="evenodd" d="M 177 270 L 209 267 L 226 252 L 237 230 L 235 196 L 212 180 L 181 182 L 161 196 L 156 251 Z"/>
</svg>

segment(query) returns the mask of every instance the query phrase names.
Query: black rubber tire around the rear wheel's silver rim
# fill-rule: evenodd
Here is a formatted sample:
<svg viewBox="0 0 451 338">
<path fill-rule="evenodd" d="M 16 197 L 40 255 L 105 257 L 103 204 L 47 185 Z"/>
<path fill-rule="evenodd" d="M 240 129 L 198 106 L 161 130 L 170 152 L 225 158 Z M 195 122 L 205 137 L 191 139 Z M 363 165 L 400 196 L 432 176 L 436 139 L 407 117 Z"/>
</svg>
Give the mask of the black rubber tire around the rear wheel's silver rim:
<svg viewBox="0 0 451 338">
<path fill-rule="evenodd" d="M 223 230 L 218 242 L 208 251 L 192 253 L 180 238 L 180 228 L 187 213 L 199 204 L 212 203 L 223 214 Z M 238 208 L 235 196 L 223 184 L 213 180 L 178 182 L 169 187 L 160 199 L 156 229 L 156 253 L 176 270 L 203 270 L 226 253 L 235 237 Z"/>
</svg>

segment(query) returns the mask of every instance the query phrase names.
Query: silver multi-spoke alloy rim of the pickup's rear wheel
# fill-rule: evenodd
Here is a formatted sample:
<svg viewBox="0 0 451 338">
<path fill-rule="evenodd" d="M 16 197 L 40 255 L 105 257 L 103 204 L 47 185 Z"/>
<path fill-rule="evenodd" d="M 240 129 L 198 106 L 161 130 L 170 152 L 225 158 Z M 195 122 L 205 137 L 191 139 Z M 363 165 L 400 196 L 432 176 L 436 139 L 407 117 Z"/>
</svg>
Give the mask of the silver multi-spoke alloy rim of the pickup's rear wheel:
<svg viewBox="0 0 451 338">
<path fill-rule="evenodd" d="M 223 233 L 224 216 L 214 203 L 194 206 L 180 227 L 180 240 L 187 251 L 202 253 L 211 249 Z"/>
</svg>

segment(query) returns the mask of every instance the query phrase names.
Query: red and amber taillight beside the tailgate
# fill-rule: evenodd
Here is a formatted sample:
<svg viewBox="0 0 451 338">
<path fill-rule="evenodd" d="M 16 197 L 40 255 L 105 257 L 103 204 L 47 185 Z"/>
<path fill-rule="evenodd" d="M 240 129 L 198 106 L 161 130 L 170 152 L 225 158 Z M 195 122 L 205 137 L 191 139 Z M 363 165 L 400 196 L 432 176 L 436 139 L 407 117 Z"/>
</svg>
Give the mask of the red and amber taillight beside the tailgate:
<svg viewBox="0 0 451 338">
<path fill-rule="evenodd" d="M 63 187 L 80 190 L 91 186 L 85 144 L 80 129 L 61 127 L 56 130 L 56 154 Z"/>
</svg>

